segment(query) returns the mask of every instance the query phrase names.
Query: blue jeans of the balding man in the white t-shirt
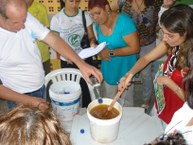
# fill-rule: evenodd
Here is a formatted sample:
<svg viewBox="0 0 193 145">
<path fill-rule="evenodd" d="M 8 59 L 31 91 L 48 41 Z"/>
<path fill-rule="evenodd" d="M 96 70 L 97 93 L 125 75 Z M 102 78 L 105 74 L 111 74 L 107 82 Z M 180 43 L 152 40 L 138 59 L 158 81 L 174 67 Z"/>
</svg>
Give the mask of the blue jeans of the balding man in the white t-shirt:
<svg viewBox="0 0 193 145">
<path fill-rule="evenodd" d="M 40 89 L 30 92 L 30 93 L 25 93 L 26 95 L 29 96 L 34 96 L 34 97 L 38 97 L 38 98 L 44 98 L 45 96 L 45 85 L 43 85 Z M 12 101 L 7 101 L 7 106 L 9 109 L 12 109 L 16 106 L 15 102 Z"/>
</svg>

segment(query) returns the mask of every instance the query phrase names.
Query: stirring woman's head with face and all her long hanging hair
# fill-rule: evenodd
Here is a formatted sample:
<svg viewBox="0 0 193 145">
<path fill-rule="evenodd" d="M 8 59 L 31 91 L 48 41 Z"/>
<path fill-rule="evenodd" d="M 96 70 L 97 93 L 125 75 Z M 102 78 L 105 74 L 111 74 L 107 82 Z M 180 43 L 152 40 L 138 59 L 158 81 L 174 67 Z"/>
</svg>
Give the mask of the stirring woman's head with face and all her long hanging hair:
<svg viewBox="0 0 193 145">
<path fill-rule="evenodd" d="M 187 66 L 187 54 L 193 46 L 193 9 L 184 4 L 171 7 L 162 14 L 160 24 L 163 40 L 170 47 L 180 46 L 175 68 L 181 70 Z"/>
</svg>

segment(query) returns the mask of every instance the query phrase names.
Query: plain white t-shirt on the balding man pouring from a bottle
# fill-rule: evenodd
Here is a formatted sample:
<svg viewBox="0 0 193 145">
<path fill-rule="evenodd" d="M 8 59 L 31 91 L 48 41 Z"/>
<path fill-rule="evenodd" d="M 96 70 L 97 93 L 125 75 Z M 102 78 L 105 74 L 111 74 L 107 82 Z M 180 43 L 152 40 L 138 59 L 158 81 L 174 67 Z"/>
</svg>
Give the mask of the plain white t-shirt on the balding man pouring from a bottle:
<svg viewBox="0 0 193 145">
<path fill-rule="evenodd" d="M 17 33 L 0 27 L 0 79 L 4 86 L 28 93 L 44 84 L 41 55 L 35 39 L 43 40 L 49 32 L 29 13 L 25 28 Z"/>
</svg>

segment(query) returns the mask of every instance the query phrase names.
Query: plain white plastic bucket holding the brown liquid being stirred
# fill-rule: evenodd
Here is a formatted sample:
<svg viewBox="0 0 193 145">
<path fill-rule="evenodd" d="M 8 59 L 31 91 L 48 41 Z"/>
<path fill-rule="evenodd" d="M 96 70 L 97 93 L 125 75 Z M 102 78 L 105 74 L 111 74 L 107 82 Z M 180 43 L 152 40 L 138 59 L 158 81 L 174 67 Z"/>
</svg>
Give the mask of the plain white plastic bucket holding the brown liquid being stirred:
<svg viewBox="0 0 193 145">
<path fill-rule="evenodd" d="M 109 105 L 111 102 L 112 99 L 103 98 L 103 104 Z M 97 105 L 99 105 L 99 102 L 96 99 L 92 101 L 87 108 L 87 115 L 90 120 L 91 136 L 94 140 L 100 143 L 113 142 L 118 136 L 120 119 L 122 117 L 122 107 L 118 102 L 116 102 L 114 107 L 119 111 L 119 115 L 112 119 L 102 120 L 95 118 L 90 114 L 90 110 Z"/>
</svg>

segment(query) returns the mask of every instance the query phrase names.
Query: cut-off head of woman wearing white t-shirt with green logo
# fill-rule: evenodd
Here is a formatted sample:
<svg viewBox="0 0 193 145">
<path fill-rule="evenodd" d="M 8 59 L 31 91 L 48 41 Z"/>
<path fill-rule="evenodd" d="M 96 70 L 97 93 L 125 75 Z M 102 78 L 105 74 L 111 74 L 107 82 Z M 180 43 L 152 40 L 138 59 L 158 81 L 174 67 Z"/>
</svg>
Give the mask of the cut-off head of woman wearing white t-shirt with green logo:
<svg viewBox="0 0 193 145">
<path fill-rule="evenodd" d="M 80 0 L 62 0 L 61 6 L 65 5 L 65 9 L 76 11 L 79 8 Z"/>
</svg>

